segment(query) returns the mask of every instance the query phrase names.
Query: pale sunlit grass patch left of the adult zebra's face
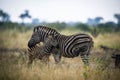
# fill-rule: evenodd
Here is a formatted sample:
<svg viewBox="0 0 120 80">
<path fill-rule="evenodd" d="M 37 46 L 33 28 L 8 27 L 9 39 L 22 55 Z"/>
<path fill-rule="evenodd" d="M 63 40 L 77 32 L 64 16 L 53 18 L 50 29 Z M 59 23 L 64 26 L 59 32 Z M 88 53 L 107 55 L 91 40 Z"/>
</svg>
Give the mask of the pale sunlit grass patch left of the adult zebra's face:
<svg viewBox="0 0 120 80">
<path fill-rule="evenodd" d="M 20 32 L 17 29 L 1 30 L 0 47 L 4 48 L 26 48 L 32 31 Z"/>
</svg>

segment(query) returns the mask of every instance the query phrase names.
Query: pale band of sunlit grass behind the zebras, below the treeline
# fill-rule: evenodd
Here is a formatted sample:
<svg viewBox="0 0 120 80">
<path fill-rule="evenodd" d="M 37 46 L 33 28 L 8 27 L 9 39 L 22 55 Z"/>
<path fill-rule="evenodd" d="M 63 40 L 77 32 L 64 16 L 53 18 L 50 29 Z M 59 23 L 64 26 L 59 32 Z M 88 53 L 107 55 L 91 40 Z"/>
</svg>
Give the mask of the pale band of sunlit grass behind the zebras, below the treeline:
<svg viewBox="0 0 120 80">
<path fill-rule="evenodd" d="M 72 35 L 76 33 L 86 33 L 76 29 L 64 29 L 60 31 L 64 35 Z M 0 34 L 0 47 L 5 48 L 26 48 L 28 40 L 32 34 L 32 30 L 20 32 L 17 29 L 2 30 Z M 90 33 L 87 33 L 91 36 Z M 93 38 L 94 46 L 105 45 L 111 48 L 120 48 L 120 33 L 106 33 L 100 34 L 97 38 Z"/>
</svg>

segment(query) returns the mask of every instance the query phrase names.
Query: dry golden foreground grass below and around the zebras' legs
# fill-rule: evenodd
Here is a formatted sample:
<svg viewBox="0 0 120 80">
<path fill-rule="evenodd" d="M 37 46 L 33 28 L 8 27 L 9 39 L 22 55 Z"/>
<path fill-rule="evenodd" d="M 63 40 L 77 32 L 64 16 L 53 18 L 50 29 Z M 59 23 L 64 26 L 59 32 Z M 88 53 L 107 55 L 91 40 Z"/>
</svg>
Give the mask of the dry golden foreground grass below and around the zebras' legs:
<svg viewBox="0 0 120 80">
<path fill-rule="evenodd" d="M 2 53 L 0 60 L 1 80 L 119 80 L 120 71 L 107 67 L 96 59 L 94 66 L 85 68 L 80 58 L 63 59 L 58 65 L 53 59 L 49 65 L 35 60 L 31 66 L 21 53 Z M 104 57 L 100 55 L 100 57 Z M 71 62 L 72 61 L 72 62 Z M 102 65 L 102 66 L 101 66 Z"/>
</svg>

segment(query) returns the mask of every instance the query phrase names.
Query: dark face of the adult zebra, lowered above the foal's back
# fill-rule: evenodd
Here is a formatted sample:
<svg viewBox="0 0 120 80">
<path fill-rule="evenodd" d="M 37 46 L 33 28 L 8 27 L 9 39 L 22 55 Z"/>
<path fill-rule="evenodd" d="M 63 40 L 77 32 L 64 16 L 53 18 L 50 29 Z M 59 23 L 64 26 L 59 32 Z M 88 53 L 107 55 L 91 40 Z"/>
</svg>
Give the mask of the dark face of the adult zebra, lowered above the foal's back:
<svg viewBox="0 0 120 80">
<path fill-rule="evenodd" d="M 29 48 L 35 47 L 35 45 L 41 41 L 40 37 L 41 36 L 39 35 L 39 32 L 37 30 L 34 30 L 30 40 L 28 41 L 28 47 Z"/>
</svg>

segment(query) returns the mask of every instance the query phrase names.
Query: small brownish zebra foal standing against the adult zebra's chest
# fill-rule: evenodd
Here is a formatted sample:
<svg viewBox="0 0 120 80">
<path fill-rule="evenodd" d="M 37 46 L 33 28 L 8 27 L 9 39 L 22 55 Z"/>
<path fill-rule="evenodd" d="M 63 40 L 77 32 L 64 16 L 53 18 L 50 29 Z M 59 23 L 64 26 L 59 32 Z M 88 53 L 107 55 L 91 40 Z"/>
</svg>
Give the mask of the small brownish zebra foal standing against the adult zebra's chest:
<svg viewBox="0 0 120 80">
<path fill-rule="evenodd" d="M 48 38 L 46 38 L 45 40 L 45 42 L 47 42 L 46 45 L 43 44 L 42 46 L 35 46 L 31 49 L 28 49 L 28 57 L 29 57 L 28 64 L 31 64 L 33 60 L 36 58 L 48 63 L 50 54 L 58 53 L 59 49 L 57 48 L 57 42 L 56 40 L 52 40 L 52 42 L 48 42 L 51 41 L 50 37 L 51 36 L 48 36 Z M 45 49 L 49 49 L 49 51 L 46 52 Z M 50 54 L 47 54 L 48 52 L 50 52 Z"/>
</svg>

